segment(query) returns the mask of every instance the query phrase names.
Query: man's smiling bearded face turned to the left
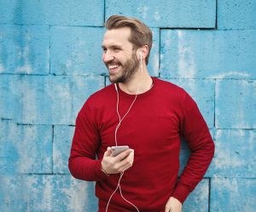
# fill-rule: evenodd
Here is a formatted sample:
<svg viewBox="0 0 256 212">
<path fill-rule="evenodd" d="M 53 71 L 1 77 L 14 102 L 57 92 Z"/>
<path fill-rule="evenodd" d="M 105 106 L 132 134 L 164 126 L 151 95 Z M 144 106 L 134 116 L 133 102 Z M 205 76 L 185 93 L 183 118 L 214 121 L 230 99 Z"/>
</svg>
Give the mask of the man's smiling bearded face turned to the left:
<svg viewBox="0 0 256 212">
<path fill-rule="evenodd" d="M 128 27 L 108 30 L 102 43 L 102 60 L 108 68 L 111 83 L 129 82 L 139 66 L 136 50 L 128 40 L 131 30 Z"/>
</svg>

